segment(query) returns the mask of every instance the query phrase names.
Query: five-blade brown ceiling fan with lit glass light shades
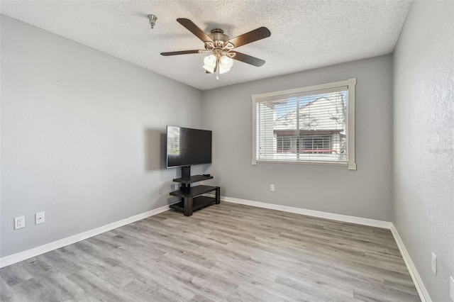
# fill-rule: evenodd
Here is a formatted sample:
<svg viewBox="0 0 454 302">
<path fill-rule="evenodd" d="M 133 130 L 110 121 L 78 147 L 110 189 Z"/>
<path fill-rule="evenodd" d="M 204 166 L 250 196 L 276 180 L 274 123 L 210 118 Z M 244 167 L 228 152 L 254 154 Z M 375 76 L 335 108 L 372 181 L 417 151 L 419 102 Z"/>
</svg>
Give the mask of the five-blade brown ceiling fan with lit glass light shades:
<svg viewBox="0 0 454 302">
<path fill-rule="evenodd" d="M 217 80 L 219 80 L 218 74 L 223 74 L 231 69 L 233 60 L 245 62 L 256 67 L 265 64 L 264 60 L 233 50 L 240 46 L 270 37 L 271 33 L 268 28 L 260 27 L 243 35 L 238 35 L 236 38 L 229 39 L 227 35 L 224 35 L 221 28 L 215 28 L 207 35 L 189 19 L 177 18 L 177 22 L 199 38 L 205 44 L 205 49 L 161 52 L 161 55 L 187 55 L 191 53 L 211 52 L 211 55 L 204 59 L 204 69 L 209 74 L 216 72 Z"/>
</svg>

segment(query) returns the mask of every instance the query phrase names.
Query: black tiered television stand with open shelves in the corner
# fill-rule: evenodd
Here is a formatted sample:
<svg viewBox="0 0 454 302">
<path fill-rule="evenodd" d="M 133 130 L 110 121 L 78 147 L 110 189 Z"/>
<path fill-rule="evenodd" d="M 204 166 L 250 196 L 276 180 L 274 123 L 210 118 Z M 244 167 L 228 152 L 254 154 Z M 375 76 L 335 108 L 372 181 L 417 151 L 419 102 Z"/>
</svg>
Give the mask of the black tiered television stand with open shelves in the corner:
<svg viewBox="0 0 454 302">
<path fill-rule="evenodd" d="M 170 192 L 172 196 L 178 196 L 182 198 L 179 203 L 172 204 L 170 208 L 177 211 L 182 211 L 184 216 L 191 216 L 193 211 L 199 210 L 212 204 L 221 203 L 221 188 L 219 186 L 193 186 L 191 184 L 197 181 L 203 181 L 206 179 L 213 179 L 212 176 L 206 175 L 192 175 L 191 167 L 182 167 L 182 177 L 173 179 L 175 182 L 182 184 L 178 191 Z M 216 191 L 216 197 L 203 196 L 203 194 Z"/>
</svg>

